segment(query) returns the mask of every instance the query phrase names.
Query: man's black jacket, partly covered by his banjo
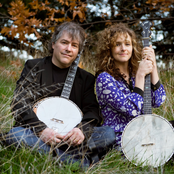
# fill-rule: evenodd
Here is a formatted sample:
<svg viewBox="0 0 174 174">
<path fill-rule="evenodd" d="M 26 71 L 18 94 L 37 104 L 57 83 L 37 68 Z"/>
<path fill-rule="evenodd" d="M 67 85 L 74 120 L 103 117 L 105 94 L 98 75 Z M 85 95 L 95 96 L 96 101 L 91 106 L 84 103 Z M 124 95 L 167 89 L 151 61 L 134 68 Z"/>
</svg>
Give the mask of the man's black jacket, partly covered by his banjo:
<svg viewBox="0 0 174 174">
<path fill-rule="evenodd" d="M 30 127 L 35 133 L 46 128 L 33 112 L 32 107 L 38 100 L 52 96 L 52 91 L 56 90 L 52 79 L 51 57 L 28 60 L 25 63 L 11 103 L 16 121 L 14 126 Z M 94 76 L 78 67 L 70 94 L 70 100 L 83 113 L 82 123 L 94 120 L 90 123 L 92 127 L 100 125 L 102 120 L 94 94 L 94 83 Z"/>
</svg>

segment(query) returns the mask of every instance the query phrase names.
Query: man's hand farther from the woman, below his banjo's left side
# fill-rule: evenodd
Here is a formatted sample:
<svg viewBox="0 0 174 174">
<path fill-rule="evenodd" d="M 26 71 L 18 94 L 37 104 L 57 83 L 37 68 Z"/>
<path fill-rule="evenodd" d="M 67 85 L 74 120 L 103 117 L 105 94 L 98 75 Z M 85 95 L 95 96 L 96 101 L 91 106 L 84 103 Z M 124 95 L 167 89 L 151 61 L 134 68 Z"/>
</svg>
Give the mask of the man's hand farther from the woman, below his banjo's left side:
<svg viewBox="0 0 174 174">
<path fill-rule="evenodd" d="M 63 135 L 60 135 L 59 133 L 50 128 L 44 129 L 42 132 L 40 132 L 39 135 L 40 139 L 43 142 L 48 143 L 50 145 L 56 145 L 57 143 L 60 143 L 64 138 Z"/>
</svg>

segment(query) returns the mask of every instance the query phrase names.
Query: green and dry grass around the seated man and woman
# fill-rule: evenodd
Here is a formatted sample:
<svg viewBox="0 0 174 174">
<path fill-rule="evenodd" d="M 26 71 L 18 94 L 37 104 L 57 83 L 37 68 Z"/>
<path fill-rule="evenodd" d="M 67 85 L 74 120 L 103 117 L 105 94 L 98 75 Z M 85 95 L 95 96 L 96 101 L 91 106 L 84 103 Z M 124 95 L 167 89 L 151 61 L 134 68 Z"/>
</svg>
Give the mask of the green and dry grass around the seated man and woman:
<svg viewBox="0 0 174 174">
<path fill-rule="evenodd" d="M 8 57 L 8 56 L 7 56 Z M 0 61 L 0 130 L 8 131 L 14 124 L 10 112 L 10 103 L 24 62 L 1 58 Z M 174 119 L 174 71 L 161 69 L 161 82 L 164 84 L 167 98 L 165 103 L 153 113 L 167 120 Z M 53 159 L 51 155 L 43 155 L 27 148 L 16 149 L 13 146 L 0 145 L 0 173 L 2 174 L 172 174 L 174 160 L 171 159 L 164 166 L 158 168 L 136 166 L 129 162 L 121 153 L 111 150 L 98 164 L 82 170 L 78 164 L 64 164 Z"/>
</svg>

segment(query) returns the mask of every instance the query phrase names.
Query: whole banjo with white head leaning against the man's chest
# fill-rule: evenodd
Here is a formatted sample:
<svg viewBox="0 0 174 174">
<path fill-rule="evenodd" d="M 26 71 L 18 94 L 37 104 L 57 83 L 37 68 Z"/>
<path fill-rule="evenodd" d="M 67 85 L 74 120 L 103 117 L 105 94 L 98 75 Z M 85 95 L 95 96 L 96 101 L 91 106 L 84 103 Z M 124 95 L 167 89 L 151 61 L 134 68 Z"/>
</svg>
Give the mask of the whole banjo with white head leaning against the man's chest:
<svg viewBox="0 0 174 174">
<path fill-rule="evenodd" d="M 83 117 L 80 108 L 69 100 L 80 55 L 81 53 L 78 54 L 76 60 L 70 66 L 61 96 L 44 98 L 33 106 L 33 111 L 38 119 L 61 135 L 66 135 L 71 131 L 81 122 Z"/>
</svg>

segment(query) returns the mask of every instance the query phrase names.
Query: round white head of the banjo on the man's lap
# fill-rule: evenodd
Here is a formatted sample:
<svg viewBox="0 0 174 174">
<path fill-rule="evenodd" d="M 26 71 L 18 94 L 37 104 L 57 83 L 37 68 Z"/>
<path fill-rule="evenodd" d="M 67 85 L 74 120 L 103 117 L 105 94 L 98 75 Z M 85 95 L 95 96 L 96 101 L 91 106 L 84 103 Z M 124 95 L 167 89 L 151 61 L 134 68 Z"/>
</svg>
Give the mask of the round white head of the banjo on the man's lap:
<svg viewBox="0 0 174 174">
<path fill-rule="evenodd" d="M 66 135 L 82 120 L 82 112 L 71 100 L 47 97 L 33 106 L 38 119 L 61 135 Z"/>
</svg>

